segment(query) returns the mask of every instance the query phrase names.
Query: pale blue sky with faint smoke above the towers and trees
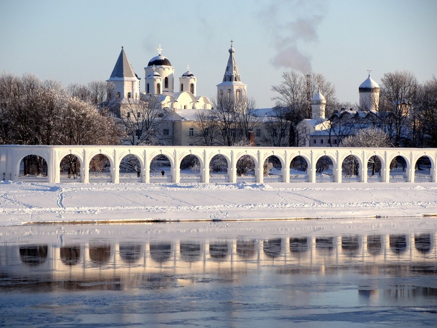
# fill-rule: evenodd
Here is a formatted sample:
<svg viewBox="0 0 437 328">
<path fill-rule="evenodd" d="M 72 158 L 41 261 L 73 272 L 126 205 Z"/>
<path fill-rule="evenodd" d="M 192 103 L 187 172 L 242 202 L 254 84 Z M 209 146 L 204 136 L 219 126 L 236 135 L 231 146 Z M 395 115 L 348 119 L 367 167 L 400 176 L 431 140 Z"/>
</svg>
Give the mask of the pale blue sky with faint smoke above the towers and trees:
<svg viewBox="0 0 437 328">
<path fill-rule="evenodd" d="M 436 18 L 436 0 L 0 0 L 0 72 L 65 86 L 106 80 L 124 46 L 143 80 L 161 44 L 175 77 L 189 64 L 197 95 L 212 98 L 232 39 L 259 108 L 273 105 L 270 88 L 288 69 L 319 72 L 356 103 L 369 66 L 378 83 L 395 70 L 437 76 Z"/>
</svg>

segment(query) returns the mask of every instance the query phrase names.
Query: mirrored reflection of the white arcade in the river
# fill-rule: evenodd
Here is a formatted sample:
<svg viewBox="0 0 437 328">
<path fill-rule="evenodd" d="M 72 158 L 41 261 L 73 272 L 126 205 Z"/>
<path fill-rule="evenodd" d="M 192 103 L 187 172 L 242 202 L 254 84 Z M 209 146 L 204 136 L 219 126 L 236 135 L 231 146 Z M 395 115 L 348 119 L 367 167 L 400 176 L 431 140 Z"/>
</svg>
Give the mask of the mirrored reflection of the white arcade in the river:
<svg viewBox="0 0 437 328">
<path fill-rule="evenodd" d="M 351 263 L 409 265 L 436 262 L 435 233 L 287 236 L 201 242 L 89 242 L 67 246 L 0 245 L 0 274 L 3 277 L 49 276 L 54 280 L 79 279 L 82 282 L 105 278 L 129 285 L 141 280 L 133 276 L 125 279 L 132 274 L 220 274 L 262 266 L 296 269 L 311 266 L 323 271 L 327 266 Z"/>
</svg>

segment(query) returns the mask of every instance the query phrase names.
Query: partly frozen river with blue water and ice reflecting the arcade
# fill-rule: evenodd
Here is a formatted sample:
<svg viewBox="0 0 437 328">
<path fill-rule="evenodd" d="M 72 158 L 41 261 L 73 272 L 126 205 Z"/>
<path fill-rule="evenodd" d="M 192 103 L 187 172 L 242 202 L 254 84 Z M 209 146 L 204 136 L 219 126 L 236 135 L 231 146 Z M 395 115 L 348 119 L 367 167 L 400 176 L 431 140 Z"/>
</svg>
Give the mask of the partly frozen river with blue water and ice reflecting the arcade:
<svg viewBox="0 0 437 328">
<path fill-rule="evenodd" d="M 437 229 L 321 222 L 2 227 L 0 326 L 435 325 Z"/>
</svg>

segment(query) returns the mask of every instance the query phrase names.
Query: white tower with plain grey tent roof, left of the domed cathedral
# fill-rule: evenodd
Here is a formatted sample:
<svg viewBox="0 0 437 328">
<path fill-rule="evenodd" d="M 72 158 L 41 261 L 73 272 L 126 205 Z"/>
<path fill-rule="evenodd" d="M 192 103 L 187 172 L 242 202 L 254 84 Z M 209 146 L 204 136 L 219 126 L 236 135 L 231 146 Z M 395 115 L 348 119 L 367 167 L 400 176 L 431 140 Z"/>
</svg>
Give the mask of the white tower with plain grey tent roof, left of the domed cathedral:
<svg viewBox="0 0 437 328">
<path fill-rule="evenodd" d="M 123 47 L 121 47 L 111 77 L 106 81 L 114 83 L 117 98 L 139 99 L 140 78 L 134 73 Z"/>
</svg>

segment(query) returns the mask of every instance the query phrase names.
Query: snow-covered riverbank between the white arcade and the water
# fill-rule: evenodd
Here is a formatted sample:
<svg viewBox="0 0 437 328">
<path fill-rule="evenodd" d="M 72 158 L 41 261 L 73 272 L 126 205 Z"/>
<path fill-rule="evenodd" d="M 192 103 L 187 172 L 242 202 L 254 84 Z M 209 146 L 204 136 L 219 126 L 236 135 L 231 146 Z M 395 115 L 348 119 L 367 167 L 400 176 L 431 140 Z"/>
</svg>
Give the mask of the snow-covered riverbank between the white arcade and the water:
<svg viewBox="0 0 437 328">
<path fill-rule="evenodd" d="M 435 183 L 46 184 L 2 182 L 0 225 L 437 214 Z"/>
</svg>

